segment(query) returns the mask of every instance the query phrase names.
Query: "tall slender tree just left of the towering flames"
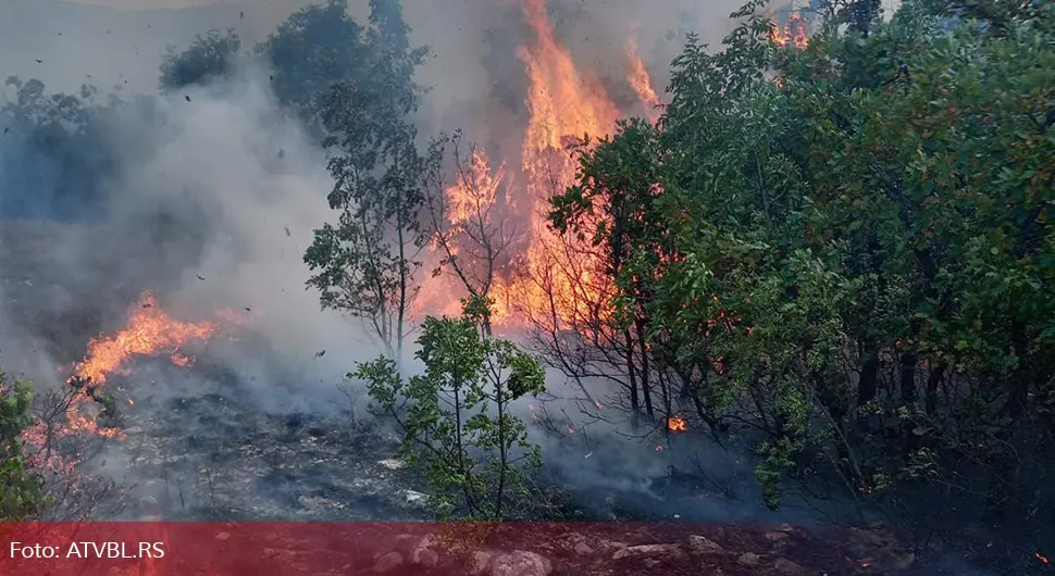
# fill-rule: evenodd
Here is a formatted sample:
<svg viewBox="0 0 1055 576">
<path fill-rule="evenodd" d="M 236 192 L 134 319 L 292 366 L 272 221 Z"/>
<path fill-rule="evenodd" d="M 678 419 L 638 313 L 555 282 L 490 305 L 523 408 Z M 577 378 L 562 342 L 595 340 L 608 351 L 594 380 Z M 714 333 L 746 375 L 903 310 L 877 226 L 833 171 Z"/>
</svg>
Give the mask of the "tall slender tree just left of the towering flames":
<svg viewBox="0 0 1055 576">
<path fill-rule="evenodd" d="M 347 32 L 355 25 L 349 22 Z M 401 359 L 427 240 L 421 212 L 429 168 L 413 124 L 419 90 L 411 74 L 421 57 L 394 49 L 390 34 L 372 35 L 375 41 L 364 45 L 369 74 L 333 85 L 314 100 L 328 134 L 325 145 L 337 152 L 328 163 L 335 180 L 328 200 L 340 215 L 337 225 L 315 231 L 305 262 L 318 271 L 309 285 L 322 292 L 323 306 L 364 318 L 385 352 Z"/>
</svg>

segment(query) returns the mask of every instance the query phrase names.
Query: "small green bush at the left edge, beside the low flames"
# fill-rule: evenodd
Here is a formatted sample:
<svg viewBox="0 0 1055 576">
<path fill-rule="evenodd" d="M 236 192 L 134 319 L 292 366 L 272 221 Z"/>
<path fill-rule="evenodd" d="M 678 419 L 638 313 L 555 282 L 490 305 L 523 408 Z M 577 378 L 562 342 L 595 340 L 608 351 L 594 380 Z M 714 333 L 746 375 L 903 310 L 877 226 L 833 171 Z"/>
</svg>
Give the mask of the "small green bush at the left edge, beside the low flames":
<svg viewBox="0 0 1055 576">
<path fill-rule="evenodd" d="M 23 434 L 33 425 L 29 405 L 33 385 L 11 380 L 0 371 L 0 519 L 36 519 L 49 504 L 44 477 L 30 469 L 24 453 Z"/>
</svg>

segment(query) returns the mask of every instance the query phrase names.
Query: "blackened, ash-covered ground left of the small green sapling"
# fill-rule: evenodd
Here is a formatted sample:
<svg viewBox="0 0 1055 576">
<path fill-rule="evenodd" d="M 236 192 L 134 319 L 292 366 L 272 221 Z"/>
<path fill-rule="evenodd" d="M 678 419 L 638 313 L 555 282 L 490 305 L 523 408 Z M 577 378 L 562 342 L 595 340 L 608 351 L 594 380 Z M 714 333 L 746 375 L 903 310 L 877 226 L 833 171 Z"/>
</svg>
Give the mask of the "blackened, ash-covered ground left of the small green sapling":
<svg viewBox="0 0 1055 576">
<path fill-rule="evenodd" d="M 425 494 L 390 460 L 395 437 L 350 411 L 263 409 L 259 387 L 216 365 L 151 360 L 133 374 L 113 384 L 126 438 L 100 471 L 128 487 L 121 519 L 429 518 Z"/>
</svg>

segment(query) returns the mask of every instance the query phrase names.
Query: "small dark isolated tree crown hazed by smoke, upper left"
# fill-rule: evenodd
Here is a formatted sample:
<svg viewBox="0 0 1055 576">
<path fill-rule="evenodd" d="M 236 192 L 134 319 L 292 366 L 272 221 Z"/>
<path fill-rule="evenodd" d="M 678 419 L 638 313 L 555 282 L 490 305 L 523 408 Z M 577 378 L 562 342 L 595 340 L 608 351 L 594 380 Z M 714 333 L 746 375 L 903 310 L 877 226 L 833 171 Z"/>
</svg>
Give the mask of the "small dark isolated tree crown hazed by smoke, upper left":
<svg viewBox="0 0 1055 576">
<path fill-rule="evenodd" d="M 223 79 L 234 70 L 241 39 L 233 29 L 226 33 L 212 29 L 204 36 L 195 36 L 183 52 L 170 46 L 161 61 L 158 84 L 162 91 L 171 92 L 191 85 L 206 85 Z"/>
</svg>

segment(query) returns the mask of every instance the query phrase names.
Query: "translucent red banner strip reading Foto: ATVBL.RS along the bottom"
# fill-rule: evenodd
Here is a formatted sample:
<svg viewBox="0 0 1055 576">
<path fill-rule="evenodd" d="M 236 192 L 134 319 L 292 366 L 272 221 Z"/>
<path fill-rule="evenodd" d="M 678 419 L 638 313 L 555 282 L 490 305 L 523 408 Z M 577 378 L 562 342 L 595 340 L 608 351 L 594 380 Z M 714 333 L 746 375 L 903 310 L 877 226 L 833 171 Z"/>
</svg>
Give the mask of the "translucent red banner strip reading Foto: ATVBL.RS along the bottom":
<svg viewBox="0 0 1055 576">
<path fill-rule="evenodd" d="M 721 569 L 732 576 L 774 568 L 806 574 L 818 564 L 843 573 L 831 569 L 835 558 L 809 552 L 815 541 L 774 552 L 773 540 L 790 544 L 797 528 L 730 530 L 687 523 L 9 523 L 0 525 L 0 575 L 674 576 Z M 843 565 L 851 573 L 854 567 Z"/>
</svg>

